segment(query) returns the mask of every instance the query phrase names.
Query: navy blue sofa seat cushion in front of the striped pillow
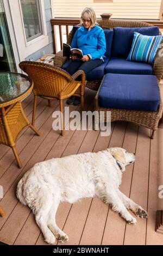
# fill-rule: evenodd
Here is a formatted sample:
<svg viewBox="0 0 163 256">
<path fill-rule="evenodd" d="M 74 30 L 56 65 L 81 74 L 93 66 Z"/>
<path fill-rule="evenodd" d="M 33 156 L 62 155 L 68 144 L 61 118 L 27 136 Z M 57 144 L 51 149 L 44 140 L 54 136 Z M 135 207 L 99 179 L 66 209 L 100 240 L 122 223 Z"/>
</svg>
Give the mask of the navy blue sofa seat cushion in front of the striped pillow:
<svg viewBox="0 0 163 256">
<path fill-rule="evenodd" d="M 107 73 L 152 75 L 153 67 L 148 63 L 129 62 L 124 58 L 112 57 L 105 66 L 105 74 Z"/>
</svg>

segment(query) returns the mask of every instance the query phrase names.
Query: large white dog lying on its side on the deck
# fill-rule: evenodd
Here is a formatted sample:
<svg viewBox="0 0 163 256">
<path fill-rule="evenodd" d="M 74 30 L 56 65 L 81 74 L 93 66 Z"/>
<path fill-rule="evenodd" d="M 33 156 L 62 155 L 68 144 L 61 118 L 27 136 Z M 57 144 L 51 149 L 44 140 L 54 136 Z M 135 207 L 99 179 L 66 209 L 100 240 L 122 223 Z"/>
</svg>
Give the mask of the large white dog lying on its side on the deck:
<svg viewBox="0 0 163 256">
<path fill-rule="evenodd" d="M 129 224 L 136 224 L 128 209 L 142 218 L 147 218 L 147 212 L 118 189 L 125 166 L 134 161 L 135 154 L 110 148 L 36 163 L 18 182 L 17 198 L 33 210 L 47 243 L 54 243 L 55 238 L 68 240 L 55 222 L 60 202 L 99 197 Z"/>
</svg>

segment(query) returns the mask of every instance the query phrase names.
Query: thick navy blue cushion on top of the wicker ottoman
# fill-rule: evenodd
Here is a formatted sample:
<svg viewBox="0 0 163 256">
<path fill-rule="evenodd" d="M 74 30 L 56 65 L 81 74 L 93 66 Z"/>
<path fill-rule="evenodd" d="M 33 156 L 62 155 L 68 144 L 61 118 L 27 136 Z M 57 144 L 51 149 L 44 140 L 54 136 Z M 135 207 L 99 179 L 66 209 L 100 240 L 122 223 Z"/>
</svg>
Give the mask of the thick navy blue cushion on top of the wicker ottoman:
<svg viewBox="0 0 163 256">
<path fill-rule="evenodd" d="M 99 106 L 156 111 L 160 102 L 156 76 L 106 74 L 99 91 Z"/>
</svg>

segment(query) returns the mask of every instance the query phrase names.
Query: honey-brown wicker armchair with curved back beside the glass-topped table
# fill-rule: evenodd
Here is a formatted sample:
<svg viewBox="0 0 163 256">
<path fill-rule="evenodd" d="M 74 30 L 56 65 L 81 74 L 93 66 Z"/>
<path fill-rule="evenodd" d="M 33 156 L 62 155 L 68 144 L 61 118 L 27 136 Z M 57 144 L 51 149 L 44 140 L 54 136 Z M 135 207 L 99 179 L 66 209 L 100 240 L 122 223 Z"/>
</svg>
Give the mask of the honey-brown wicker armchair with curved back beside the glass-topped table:
<svg viewBox="0 0 163 256">
<path fill-rule="evenodd" d="M 54 67 L 52 65 L 37 62 L 21 62 L 20 68 L 28 74 L 34 82 L 34 106 L 32 124 L 35 121 L 36 100 L 37 96 L 48 100 L 60 101 L 60 112 L 63 114 L 63 100 L 71 95 L 81 97 L 81 107 L 84 107 L 84 89 L 85 74 L 79 70 L 73 76 L 70 76 L 65 70 Z M 74 81 L 79 75 L 82 75 L 82 81 Z M 64 118 L 61 115 L 61 135 L 65 133 Z"/>
</svg>

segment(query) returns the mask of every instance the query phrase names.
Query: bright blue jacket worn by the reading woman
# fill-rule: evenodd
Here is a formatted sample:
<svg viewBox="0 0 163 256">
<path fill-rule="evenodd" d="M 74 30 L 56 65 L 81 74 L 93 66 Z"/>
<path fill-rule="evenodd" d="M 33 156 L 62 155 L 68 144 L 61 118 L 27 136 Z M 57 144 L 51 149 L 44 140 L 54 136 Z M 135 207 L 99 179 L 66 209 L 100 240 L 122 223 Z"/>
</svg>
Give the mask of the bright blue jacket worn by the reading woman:
<svg viewBox="0 0 163 256">
<path fill-rule="evenodd" d="M 73 36 L 71 48 L 79 48 L 83 55 L 89 55 L 90 59 L 103 59 L 106 51 L 103 29 L 98 25 L 90 30 L 84 26 L 78 28 Z"/>
</svg>

